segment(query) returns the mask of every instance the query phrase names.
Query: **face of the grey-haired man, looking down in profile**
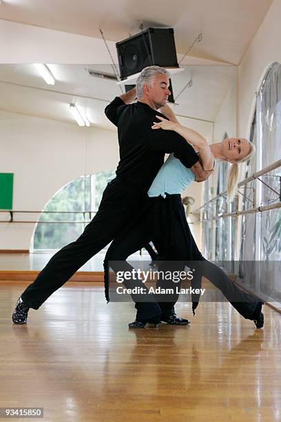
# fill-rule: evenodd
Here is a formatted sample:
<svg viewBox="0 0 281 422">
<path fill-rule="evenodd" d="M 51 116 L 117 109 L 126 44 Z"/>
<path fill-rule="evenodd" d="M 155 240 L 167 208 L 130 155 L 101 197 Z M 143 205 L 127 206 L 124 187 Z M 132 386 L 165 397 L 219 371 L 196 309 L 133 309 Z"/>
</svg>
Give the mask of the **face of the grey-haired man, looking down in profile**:
<svg viewBox="0 0 281 422">
<path fill-rule="evenodd" d="M 169 94 L 171 94 L 171 91 L 169 90 L 169 76 L 158 73 L 152 81 L 152 85 L 145 86 L 145 93 L 147 94 L 150 103 L 152 103 L 156 109 L 165 106 Z"/>
</svg>

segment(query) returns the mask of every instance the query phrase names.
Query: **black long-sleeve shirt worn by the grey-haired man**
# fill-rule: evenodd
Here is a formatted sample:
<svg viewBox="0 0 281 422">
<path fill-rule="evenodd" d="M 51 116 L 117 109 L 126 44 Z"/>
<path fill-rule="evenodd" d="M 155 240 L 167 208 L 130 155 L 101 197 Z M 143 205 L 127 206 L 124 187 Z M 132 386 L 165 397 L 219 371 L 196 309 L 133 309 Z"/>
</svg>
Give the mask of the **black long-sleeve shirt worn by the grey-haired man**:
<svg viewBox="0 0 281 422">
<path fill-rule="evenodd" d="M 191 168 L 198 155 L 183 137 L 173 130 L 152 129 L 156 114 L 148 104 L 138 101 L 125 104 L 116 97 L 106 108 L 105 114 L 118 128 L 120 161 L 116 176 L 133 185 L 140 193 L 149 189 L 158 170 L 163 165 L 165 153 L 174 156 Z"/>
</svg>

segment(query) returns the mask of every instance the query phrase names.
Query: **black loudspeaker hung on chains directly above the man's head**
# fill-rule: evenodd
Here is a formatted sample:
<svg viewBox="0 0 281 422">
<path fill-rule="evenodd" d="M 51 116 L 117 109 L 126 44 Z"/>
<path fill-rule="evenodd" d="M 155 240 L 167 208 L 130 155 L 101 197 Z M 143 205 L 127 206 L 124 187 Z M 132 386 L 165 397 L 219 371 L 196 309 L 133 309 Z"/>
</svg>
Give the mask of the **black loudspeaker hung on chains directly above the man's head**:
<svg viewBox="0 0 281 422">
<path fill-rule="evenodd" d="M 121 79 L 147 66 L 178 68 L 173 28 L 148 28 L 116 43 Z"/>
</svg>

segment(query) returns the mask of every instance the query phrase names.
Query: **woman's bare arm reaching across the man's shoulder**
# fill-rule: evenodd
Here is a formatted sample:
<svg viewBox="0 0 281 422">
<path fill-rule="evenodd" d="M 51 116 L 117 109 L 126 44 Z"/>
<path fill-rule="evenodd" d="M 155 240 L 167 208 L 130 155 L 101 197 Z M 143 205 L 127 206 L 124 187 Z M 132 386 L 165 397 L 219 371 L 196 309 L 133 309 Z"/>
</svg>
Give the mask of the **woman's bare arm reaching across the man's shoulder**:
<svg viewBox="0 0 281 422">
<path fill-rule="evenodd" d="M 214 168 L 214 155 L 211 152 L 209 143 L 207 143 L 206 139 L 202 137 L 200 133 L 195 130 L 185 128 L 185 126 L 180 125 L 180 123 L 168 121 L 160 116 L 156 117 L 160 120 L 160 122 L 154 122 L 152 129 L 174 130 L 185 138 L 187 142 L 192 143 L 198 148 L 200 161 L 204 170 L 211 171 Z"/>
</svg>

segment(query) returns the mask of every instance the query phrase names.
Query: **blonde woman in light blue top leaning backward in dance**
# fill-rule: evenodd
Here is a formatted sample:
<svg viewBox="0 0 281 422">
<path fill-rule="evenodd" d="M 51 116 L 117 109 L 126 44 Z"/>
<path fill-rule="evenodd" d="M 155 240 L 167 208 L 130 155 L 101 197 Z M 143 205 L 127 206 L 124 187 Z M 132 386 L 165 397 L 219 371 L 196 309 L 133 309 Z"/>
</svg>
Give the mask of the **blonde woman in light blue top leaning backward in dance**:
<svg viewBox="0 0 281 422">
<path fill-rule="evenodd" d="M 205 170 L 214 168 L 215 159 L 231 162 L 232 165 L 228 175 L 228 192 L 229 196 L 232 196 L 236 190 L 238 165 L 249 160 L 254 152 L 254 146 L 247 139 L 236 138 L 224 139 L 220 143 L 209 145 L 198 132 L 180 125 L 176 121 L 174 113 L 168 107 L 166 107 L 166 110 L 162 109 L 161 111 L 171 121 L 158 117 L 160 122 L 154 121 L 152 128 L 154 130 L 168 130 L 170 134 L 173 133 L 171 131 L 181 134 L 198 150 L 200 162 Z M 105 257 L 105 292 L 107 300 L 109 300 L 107 290 L 109 281 L 108 261 L 125 260 L 130 254 L 138 250 L 140 245 L 152 240 L 155 245 L 157 244 L 158 250 L 162 249 L 162 252 L 160 252 L 161 258 L 163 257 L 167 261 L 180 261 L 180 264 L 175 262 L 174 270 L 184 270 L 185 263 L 192 261 L 192 265 L 196 269 L 197 282 L 202 279 L 202 276 L 209 279 L 245 319 L 254 321 L 257 328 L 262 328 L 264 323 L 264 316 L 261 312 L 262 301 L 240 290 L 227 277 L 225 272 L 205 260 L 197 248 L 189 230 L 189 225 L 185 218 L 185 210 L 180 198 L 180 193 L 192 181 L 194 181 L 192 172 L 185 168 L 174 157 L 174 154 L 170 154 L 148 190 L 148 196 L 152 200 L 149 212 L 138 218 L 129 232 L 114 239 L 114 242 L 107 250 Z M 156 219 L 160 223 L 158 227 L 155 227 Z M 110 267 L 115 271 L 114 265 L 116 264 L 113 263 L 112 265 L 110 263 Z M 171 263 L 169 263 L 169 266 L 173 267 Z M 190 267 L 190 265 L 188 266 Z M 118 269 L 118 265 L 116 268 Z M 127 269 L 129 270 L 129 267 Z M 164 287 L 165 280 L 160 281 L 158 285 Z M 160 319 L 170 324 L 183 325 L 184 321 L 187 320 L 184 320 L 183 324 L 181 324 L 174 312 L 174 304 L 178 299 L 178 295 L 174 295 L 172 299 L 173 302 L 158 302 L 161 310 Z M 193 310 L 197 304 L 198 302 L 194 301 Z M 136 321 L 129 324 L 129 327 L 143 328 L 149 322 L 149 318 L 140 318 L 137 312 Z"/>
</svg>

